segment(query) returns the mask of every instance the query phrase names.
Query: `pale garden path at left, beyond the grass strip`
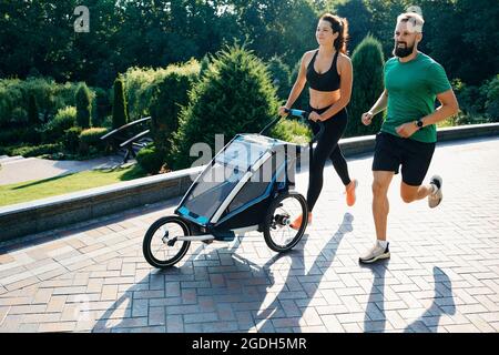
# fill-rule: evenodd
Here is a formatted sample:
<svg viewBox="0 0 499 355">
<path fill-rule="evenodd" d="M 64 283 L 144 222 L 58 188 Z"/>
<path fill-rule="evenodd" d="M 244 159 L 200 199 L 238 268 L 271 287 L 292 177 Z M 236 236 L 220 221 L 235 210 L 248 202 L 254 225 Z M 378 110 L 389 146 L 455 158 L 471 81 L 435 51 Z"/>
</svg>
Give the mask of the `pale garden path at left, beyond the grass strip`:
<svg viewBox="0 0 499 355">
<path fill-rule="evenodd" d="M 48 160 L 39 158 L 0 158 L 0 185 L 31 180 L 50 179 L 85 170 L 111 169 L 121 165 L 123 158 L 111 155 L 86 161 Z"/>
</svg>

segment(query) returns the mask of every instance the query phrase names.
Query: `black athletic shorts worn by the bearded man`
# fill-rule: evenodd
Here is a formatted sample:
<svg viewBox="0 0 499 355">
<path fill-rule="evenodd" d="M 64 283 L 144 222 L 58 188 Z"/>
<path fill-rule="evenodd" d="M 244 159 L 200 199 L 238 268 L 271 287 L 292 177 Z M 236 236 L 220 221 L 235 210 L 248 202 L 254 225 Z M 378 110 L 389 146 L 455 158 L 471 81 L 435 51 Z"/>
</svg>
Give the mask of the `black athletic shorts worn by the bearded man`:
<svg viewBox="0 0 499 355">
<path fill-rule="evenodd" d="M 398 174 L 401 165 L 403 181 L 408 185 L 419 186 L 428 172 L 434 152 L 435 143 L 379 132 L 376 135 L 373 171 L 393 171 Z"/>
</svg>

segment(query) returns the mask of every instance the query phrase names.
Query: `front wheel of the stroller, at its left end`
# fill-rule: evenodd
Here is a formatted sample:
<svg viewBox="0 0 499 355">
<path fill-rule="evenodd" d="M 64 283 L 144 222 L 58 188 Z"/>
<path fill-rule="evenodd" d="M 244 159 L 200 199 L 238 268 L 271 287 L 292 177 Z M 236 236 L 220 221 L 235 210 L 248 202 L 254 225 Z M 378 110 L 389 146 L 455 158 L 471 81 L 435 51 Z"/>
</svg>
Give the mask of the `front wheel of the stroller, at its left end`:
<svg viewBox="0 0 499 355">
<path fill-rule="evenodd" d="M 181 217 L 172 215 L 157 220 L 145 232 L 142 244 L 145 260 L 159 268 L 174 265 L 191 245 L 191 242 L 175 241 L 175 237 L 186 235 L 191 235 L 191 229 Z"/>
</svg>

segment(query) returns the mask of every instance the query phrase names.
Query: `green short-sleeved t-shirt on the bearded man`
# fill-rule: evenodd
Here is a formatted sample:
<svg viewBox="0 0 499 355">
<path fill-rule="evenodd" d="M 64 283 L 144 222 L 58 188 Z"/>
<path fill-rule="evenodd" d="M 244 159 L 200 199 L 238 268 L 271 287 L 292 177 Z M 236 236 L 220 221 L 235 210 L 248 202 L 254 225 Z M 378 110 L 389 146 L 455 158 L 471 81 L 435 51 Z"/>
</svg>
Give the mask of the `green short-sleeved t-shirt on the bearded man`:
<svg viewBox="0 0 499 355">
<path fill-rule="evenodd" d="M 444 68 L 430 57 L 418 52 L 409 62 L 401 63 L 394 57 L 385 63 L 385 88 L 388 92 L 388 112 L 381 132 L 398 136 L 397 126 L 434 112 L 437 94 L 451 87 Z M 427 125 L 410 139 L 436 142 L 437 128 L 435 124 Z"/>
</svg>

